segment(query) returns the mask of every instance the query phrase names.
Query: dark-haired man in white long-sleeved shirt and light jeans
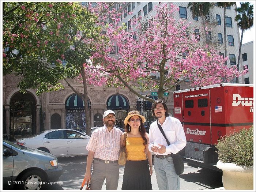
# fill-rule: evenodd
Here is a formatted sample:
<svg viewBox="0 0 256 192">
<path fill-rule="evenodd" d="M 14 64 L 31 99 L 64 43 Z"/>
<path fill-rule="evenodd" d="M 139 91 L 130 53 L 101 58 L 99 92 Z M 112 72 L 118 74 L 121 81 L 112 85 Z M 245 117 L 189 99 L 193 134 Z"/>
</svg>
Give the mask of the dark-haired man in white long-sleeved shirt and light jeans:
<svg viewBox="0 0 256 192">
<path fill-rule="evenodd" d="M 182 150 L 186 144 L 186 136 L 180 120 L 169 117 L 169 110 L 165 101 L 158 99 L 152 105 L 152 116 L 158 120 L 150 125 L 148 149 L 154 155 L 154 169 L 157 177 L 157 185 L 160 190 L 180 189 L 180 177 L 177 176 L 171 153 L 176 154 Z M 159 127 L 161 125 L 166 138 L 169 140 L 168 146 Z"/>
</svg>

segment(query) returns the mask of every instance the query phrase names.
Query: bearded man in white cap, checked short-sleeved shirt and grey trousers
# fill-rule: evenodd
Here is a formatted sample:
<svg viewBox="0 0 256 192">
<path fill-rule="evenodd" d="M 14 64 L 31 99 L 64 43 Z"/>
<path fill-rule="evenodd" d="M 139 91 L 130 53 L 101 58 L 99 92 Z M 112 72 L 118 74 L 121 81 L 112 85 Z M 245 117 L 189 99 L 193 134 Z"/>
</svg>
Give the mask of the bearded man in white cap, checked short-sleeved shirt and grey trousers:
<svg viewBox="0 0 256 192">
<path fill-rule="evenodd" d="M 104 126 L 91 134 L 86 146 L 89 151 L 84 178 L 89 180 L 92 190 L 101 190 L 106 178 L 106 190 L 116 190 L 118 186 L 120 137 L 122 131 L 114 128 L 116 114 L 106 110 L 103 114 Z M 93 166 L 91 173 L 91 166 Z"/>
</svg>

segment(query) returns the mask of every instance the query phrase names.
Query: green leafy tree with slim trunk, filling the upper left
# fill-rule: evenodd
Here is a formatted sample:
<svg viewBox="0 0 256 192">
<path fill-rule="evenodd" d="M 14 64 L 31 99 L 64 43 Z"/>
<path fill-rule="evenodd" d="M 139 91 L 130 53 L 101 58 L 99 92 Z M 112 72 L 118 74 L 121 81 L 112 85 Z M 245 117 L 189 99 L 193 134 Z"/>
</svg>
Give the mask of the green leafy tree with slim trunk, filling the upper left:
<svg viewBox="0 0 256 192">
<path fill-rule="evenodd" d="M 28 88 L 37 89 L 37 94 L 63 89 L 60 79 L 64 79 L 84 99 L 88 135 L 91 126 L 83 67 L 92 50 L 90 41 L 100 38 L 97 19 L 79 2 L 3 2 L 3 74 L 22 75 L 18 86 L 23 93 Z M 80 74 L 84 94 L 68 83 L 68 78 Z"/>
</svg>

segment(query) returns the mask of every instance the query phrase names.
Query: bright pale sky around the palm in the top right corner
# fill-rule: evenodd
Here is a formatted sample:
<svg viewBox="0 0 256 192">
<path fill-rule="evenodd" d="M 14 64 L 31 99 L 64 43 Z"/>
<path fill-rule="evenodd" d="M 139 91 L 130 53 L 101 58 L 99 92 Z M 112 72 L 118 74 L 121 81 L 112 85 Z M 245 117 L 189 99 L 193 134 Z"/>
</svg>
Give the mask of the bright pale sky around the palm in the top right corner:
<svg viewBox="0 0 256 192">
<path fill-rule="evenodd" d="M 253 4 L 253 13 L 255 12 L 255 5 L 256 5 L 255 1 L 236 1 L 237 7 L 240 7 L 240 2 L 250 2 L 250 4 Z M 253 23 L 255 25 L 255 18 L 254 18 Z M 242 34 L 241 30 L 240 30 L 239 34 L 240 34 L 240 39 L 241 39 L 241 34 Z M 249 29 L 245 30 L 244 35 L 243 35 L 243 39 L 242 39 L 242 44 L 245 44 L 245 43 L 250 42 L 250 41 L 255 42 L 255 35 L 256 35 L 255 26 L 253 26 L 251 28 L 251 30 L 249 30 Z"/>
</svg>

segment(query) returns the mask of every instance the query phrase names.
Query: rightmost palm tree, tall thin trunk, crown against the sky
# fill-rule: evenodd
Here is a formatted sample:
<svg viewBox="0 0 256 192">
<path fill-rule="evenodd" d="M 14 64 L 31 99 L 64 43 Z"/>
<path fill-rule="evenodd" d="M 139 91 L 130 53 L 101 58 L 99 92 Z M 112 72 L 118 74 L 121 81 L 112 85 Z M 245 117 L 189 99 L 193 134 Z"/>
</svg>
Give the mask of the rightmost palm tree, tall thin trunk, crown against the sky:
<svg viewBox="0 0 256 192">
<path fill-rule="evenodd" d="M 237 70 L 239 70 L 240 57 L 241 57 L 241 47 L 242 40 L 244 35 L 244 30 L 251 30 L 253 27 L 253 5 L 250 5 L 249 2 L 240 2 L 241 7 L 236 8 L 237 15 L 235 16 L 235 21 L 237 22 L 237 26 L 241 29 L 241 40 L 239 46 L 239 54 L 237 61 Z M 238 83 L 238 77 L 236 77 L 236 83 Z"/>
</svg>

